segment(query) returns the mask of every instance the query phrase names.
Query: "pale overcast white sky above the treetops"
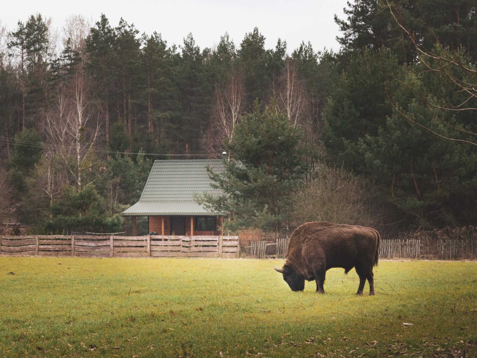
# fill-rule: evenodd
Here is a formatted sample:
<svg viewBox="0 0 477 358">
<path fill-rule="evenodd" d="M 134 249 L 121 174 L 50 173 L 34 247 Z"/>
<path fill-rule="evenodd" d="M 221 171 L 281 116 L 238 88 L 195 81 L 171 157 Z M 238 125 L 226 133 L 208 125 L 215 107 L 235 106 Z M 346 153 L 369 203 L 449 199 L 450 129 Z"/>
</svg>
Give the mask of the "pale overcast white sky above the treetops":
<svg viewBox="0 0 477 358">
<path fill-rule="evenodd" d="M 339 32 L 333 16 L 336 13 L 344 18 L 345 6 L 346 0 L 4 0 L 0 21 L 11 31 L 18 20 L 26 21 L 31 14 L 40 12 L 61 29 L 69 15 L 81 14 L 96 22 L 104 12 L 113 27 L 123 17 L 141 33 L 160 32 L 168 45 L 182 44 L 187 33 L 192 32 L 201 49 L 216 45 L 226 31 L 239 47 L 245 33 L 258 26 L 266 37 L 267 49 L 275 47 L 280 37 L 287 41 L 290 53 L 302 40 L 310 40 L 315 50 L 325 46 L 338 50 L 335 37 Z"/>
</svg>

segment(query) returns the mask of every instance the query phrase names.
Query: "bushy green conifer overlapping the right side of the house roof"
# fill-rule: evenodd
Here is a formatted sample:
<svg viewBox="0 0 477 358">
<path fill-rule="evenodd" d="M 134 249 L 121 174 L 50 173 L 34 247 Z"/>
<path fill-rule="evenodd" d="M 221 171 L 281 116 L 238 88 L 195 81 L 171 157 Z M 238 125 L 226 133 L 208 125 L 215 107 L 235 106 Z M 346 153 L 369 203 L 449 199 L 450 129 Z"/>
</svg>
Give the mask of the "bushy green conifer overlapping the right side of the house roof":
<svg viewBox="0 0 477 358">
<path fill-rule="evenodd" d="M 228 230 L 278 229 L 288 220 L 290 191 L 302 179 L 305 164 L 298 148 L 300 130 L 274 108 L 262 110 L 256 101 L 239 122 L 233 142 L 226 144 L 233 160 L 224 159 L 220 174 L 207 168 L 212 187 L 223 195 L 196 196 L 211 211 L 228 214 Z"/>
</svg>

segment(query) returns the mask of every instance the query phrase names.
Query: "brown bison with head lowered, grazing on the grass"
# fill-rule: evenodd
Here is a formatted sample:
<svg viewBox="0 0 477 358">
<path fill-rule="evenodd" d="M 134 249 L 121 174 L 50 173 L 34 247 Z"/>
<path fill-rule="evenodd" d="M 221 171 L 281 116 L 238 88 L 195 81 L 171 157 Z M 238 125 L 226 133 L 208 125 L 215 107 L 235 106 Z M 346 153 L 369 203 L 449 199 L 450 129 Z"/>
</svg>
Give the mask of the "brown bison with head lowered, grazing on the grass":
<svg viewBox="0 0 477 358">
<path fill-rule="evenodd" d="M 369 294 L 374 295 L 373 265 L 378 264 L 379 232 L 357 225 L 307 222 L 290 237 L 283 279 L 292 291 L 302 291 L 305 280 L 316 280 L 316 291 L 324 294 L 328 269 L 342 267 L 347 274 L 353 267 L 360 278 L 357 295 L 363 294 L 366 279 Z"/>
</svg>

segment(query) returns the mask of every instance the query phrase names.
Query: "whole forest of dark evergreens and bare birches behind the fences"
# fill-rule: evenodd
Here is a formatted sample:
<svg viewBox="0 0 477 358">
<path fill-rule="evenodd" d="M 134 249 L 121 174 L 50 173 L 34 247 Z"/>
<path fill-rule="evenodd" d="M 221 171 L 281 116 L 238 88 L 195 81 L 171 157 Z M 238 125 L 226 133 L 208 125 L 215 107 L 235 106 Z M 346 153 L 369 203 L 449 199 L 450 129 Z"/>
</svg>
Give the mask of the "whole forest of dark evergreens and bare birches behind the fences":
<svg viewBox="0 0 477 358">
<path fill-rule="evenodd" d="M 356 0 L 335 22 L 337 52 L 258 28 L 169 44 L 105 14 L 0 24 L 2 216 L 122 231 L 154 159 L 221 158 L 227 198 L 197 200 L 232 230 L 475 223 L 474 1 Z"/>
</svg>

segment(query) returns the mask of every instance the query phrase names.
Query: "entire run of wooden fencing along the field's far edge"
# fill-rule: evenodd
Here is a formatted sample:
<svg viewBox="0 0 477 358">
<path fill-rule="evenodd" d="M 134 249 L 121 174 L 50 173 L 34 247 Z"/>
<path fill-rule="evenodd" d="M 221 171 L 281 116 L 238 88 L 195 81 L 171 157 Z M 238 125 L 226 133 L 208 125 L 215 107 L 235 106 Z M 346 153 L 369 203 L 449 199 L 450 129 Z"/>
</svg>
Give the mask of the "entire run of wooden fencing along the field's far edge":
<svg viewBox="0 0 477 358">
<path fill-rule="evenodd" d="M 277 258 L 286 256 L 289 238 L 251 241 L 238 236 L 0 236 L 2 256 L 79 257 L 222 257 Z M 461 260 L 477 258 L 477 239 L 382 239 L 379 257 Z"/>
</svg>

